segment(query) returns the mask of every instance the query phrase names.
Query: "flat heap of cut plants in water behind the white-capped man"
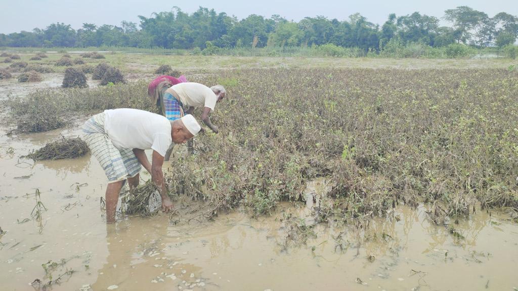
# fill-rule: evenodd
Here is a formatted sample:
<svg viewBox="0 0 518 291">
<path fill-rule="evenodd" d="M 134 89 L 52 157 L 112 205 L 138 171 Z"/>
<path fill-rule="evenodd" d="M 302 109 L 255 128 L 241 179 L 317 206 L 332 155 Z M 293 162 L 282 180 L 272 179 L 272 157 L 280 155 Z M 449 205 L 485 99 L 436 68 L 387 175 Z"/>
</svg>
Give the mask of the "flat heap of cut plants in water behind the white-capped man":
<svg viewBox="0 0 518 291">
<path fill-rule="evenodd" d="M 65 138 L 49 142 L 39 150 L 24 156 L 32 158 L 34 161 L 42 161 L 45 159 L 63 159 L 76 158 L 88 153 L 87 143 L 80 138 Z"/>
</svg>

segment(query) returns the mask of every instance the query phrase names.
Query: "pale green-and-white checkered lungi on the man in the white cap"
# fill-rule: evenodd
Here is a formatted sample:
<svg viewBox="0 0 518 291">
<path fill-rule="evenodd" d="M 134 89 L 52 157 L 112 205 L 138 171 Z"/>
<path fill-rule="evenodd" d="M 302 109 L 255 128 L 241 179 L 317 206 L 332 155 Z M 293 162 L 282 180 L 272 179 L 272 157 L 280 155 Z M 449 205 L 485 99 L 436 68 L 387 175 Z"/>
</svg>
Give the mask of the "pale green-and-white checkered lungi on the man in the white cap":
<svg viewBox="0 0 518 291">
<path fill-rule="evenodd" d="M 133 149 L 118 150 L 104 130 L 105 113 L 99 113 L 83 124 L 83 140 L 103 167 L 108 183 L 137 176 L 142 166 Z"/>
</svg>

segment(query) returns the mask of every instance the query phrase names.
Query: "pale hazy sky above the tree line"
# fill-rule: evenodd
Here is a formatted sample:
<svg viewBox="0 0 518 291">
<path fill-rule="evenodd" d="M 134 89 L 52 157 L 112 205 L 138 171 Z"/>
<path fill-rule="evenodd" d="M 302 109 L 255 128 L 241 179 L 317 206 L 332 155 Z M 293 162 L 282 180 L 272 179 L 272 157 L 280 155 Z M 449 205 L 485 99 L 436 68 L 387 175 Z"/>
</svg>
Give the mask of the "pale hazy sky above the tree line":
<svg viewBox="0 0 518 291">
<path fill-rule="evenodd" d="M 170 11 L 178 6 L 184 12 L 192 13 L 199 6 L 213 8 L 217 13 L 226 12 L 238 19 L 250 14 L 270 17 L 279 14 L 288 19 L 299 21 L 304 17 L 325 16 L 329 19 L 347 20 L 349 15 L 359 12 L 368 21 L 383 24 L 389 13 L 397 16 L 419 11 L 421 14 L 443 17 L 444 10 L 457 6 L 469 6 L 486 12 L 493 17 L 498 12 L 518 15 L 516 0 L 186 0 L 186 1 L 111 1 L 111 0 L 0 0 L 0 33 L 32 31 L 33 28 L 45 28 L 51 23 L 71 24 L 74 29 L 82 23 L 111 24 L 120 26 L 121 21 L 139 23 L 138 15 L 150 17 L 153 12 Z M 442 24 L 446 24 L 442 22 Z"/>
</svg>

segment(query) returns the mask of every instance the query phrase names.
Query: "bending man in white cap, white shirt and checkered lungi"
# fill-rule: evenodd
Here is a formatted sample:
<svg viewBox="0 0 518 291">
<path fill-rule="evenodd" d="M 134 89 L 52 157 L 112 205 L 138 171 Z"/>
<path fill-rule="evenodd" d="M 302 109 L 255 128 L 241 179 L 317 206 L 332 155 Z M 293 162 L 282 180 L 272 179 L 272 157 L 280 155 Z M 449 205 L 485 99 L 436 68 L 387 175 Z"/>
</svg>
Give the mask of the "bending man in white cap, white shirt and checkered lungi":
<svg viewBox="0 0 518 291">
<path fill-rule="evenodd" d="M 83 125 L 84 141 L 108 176 L 106 222 L 115 221 L 119 192 L 126 179 L 130 187 L 139 182 L 141 165 L 151 173 L 162 197 L 162 209 L 172 209 L 167 196 L 162 165 L 171 142 L 185 143 L 201 129 L 190 114 L 169 121 L 138 109 L 112 109 L 94 115 Z M 152 149 L 149 163 L 144 150 Z"/>
</svg>

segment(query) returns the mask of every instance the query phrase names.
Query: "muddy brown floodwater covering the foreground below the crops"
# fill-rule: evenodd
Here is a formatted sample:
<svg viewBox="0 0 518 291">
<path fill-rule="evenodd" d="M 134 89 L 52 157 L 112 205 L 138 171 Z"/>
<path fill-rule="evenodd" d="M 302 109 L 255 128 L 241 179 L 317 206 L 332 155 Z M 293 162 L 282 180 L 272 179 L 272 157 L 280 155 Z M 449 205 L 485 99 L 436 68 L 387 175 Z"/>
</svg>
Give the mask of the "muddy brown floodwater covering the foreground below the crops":
<svg viewBox="0 0 518 291">
<path fill-rule="evenodd" d="M 284 203 L 269 217 L 242 211 L 214 221 L 171 223 L 126 217 L 106 226 L 99 197 L 106 178 L 90 155 L 65 161 L 20 158 L 77 128 L 11 136 L 0 132 L 1 290 L 513 290 L 518 288 L 518 225 L 505 213 L 477 211 L 455 228 L 430 224 L 423 207 L 399 207 L 367 230 L 314 224 L 325 181 L 307 202 Z M 149 178 L 143 173 L 143 178 Z M 35 216 L 39 201 L 39 219 Z M 188 200 L 177 201 L 183 207 Z M 292 213 L 290 223 L 283 221 Z M 397 217 L 397 219 L 396 219 Z M 314 226 L 306 243 L 290 225 Z M 295 228 L 296 229 L 296 228 Z M 314 231 L 315 236 L 311 235 Z M 71 274 L 66 271 L 73 270 Z"/>
</svg>

